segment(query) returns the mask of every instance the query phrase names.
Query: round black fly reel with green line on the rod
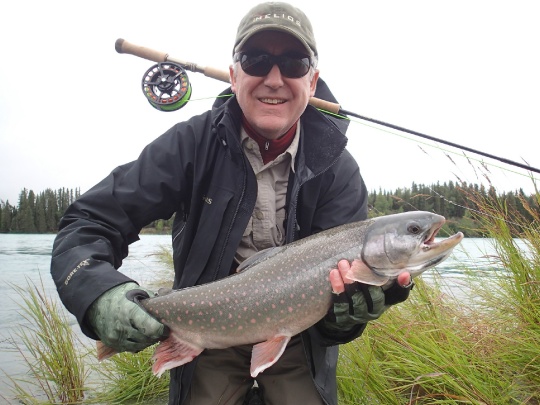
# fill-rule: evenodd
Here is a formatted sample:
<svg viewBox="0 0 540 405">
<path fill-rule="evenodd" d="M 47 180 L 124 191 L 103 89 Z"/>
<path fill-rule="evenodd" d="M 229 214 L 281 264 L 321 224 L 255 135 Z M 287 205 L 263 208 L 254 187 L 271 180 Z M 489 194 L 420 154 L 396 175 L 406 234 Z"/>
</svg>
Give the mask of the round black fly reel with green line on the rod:
<svg viewBox="0 0 540 405">
<path fill-rule="evenodd" d="M 160 62 L 146 71 L 142 89 L 152 107 L 160 111 L 176 111 L 191 97 L 191 84 L 182 66 Z"/>
</svg>

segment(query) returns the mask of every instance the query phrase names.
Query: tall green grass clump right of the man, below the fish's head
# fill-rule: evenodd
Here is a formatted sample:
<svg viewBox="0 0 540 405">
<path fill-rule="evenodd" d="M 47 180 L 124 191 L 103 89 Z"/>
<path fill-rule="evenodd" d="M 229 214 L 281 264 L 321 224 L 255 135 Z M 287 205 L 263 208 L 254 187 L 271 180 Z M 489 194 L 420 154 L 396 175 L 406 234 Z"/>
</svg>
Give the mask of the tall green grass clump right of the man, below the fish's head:
<svg viewBox="0 0 540 405">
<path fill-rule="evenodd" d="M 496 197 L 468 197 L 500 270 L 468 271 L 465 298 L 418 280 L 342 347 L 340 405 L 540 403 L 540 211 L 529 207 L 531 221 Z"/>
</svg>

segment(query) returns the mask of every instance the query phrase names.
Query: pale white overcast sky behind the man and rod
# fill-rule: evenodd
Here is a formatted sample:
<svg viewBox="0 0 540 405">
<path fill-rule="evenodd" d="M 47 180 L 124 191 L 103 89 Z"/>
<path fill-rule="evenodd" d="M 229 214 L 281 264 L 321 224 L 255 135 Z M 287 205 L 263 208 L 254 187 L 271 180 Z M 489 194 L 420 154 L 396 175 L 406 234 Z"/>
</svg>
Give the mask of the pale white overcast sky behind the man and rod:
<svg viewBox="0 0 540 405">
<path fill-rule="evenodd" d="M 117 53 L 118 38 L 226 70 L 257 3 L 2 2 L 0 200 L 16 205 L 23 188 L 85 192 L 227 87 L 188 72 L 191 101 L 157 111 L 141 89 L 154 62 Z M 536 1 L 291 4 L 313 24 L 321 78 L 343 109 L 540 167 Z M 370 190 L 458 180 L 534 190 L 523 169 L 369 122 L 354 119 L 348 137 Z"/>
</svg>

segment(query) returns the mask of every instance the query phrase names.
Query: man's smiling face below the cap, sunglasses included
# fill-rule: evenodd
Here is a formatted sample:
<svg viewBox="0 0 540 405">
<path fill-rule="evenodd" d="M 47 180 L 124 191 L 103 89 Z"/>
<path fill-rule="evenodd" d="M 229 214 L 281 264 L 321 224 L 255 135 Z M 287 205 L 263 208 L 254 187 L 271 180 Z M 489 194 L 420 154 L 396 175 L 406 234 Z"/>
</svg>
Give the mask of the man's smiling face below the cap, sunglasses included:
<svg viewBox="0 0 540 405">
<path fill-rule="evenodd" d="M 234 61 L 231 88 L 247 123 L 266 139 L 282 137 L 315 94 L 314 57 L 290 34 L 265 30 L 256 31 Z"/>
</svg>

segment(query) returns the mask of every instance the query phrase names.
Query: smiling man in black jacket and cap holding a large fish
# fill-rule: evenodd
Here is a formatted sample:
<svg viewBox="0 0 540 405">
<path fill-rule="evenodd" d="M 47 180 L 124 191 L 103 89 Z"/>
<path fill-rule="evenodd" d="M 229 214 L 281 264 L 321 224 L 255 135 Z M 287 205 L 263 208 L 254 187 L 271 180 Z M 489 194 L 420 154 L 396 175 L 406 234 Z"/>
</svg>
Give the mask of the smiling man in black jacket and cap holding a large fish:
<svg viewBox="0 0 540 405">
<path fill-rule="evenodd" d="M 366 218 L 366 187 L 345 149 L 346 121 L 308 106 L 314 95 L 335 102 L 317 58 L 302 11 L 286 3 L 254 7 L 233 48 L 235 96 L 172 127 L 69 207 L 51 272 L 86 335 L 135 352 L 164 334 L 126 299 L 139 287 L 116 271 L 154 220 L 175 214 L 174 288 L 184 288 L 226 277 L 262 249 Z M 336 345 L 408 295 L 401 287 L 408 275 L 383 292 L 347 280 L 348 268 L 341 261 L 329 273 L 336 303 L 328 316 L 293 337 L 257 377 L 266 404 L 336 404 Z M 173 369 L 169 403 L 242 404 L 253 385 L 250 352 L 205 350 Z"/>
</svg>

